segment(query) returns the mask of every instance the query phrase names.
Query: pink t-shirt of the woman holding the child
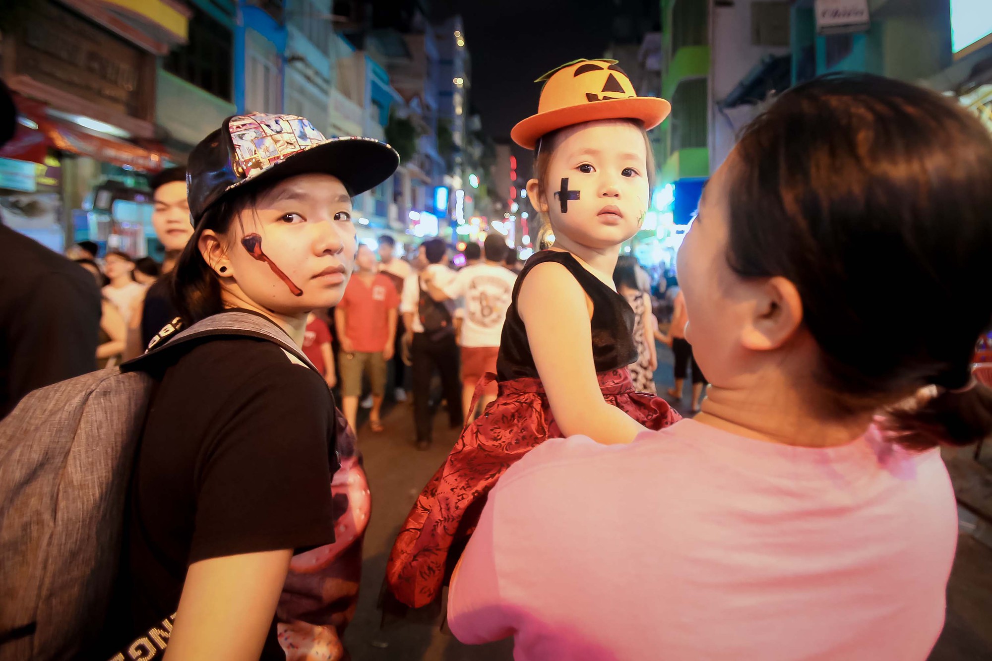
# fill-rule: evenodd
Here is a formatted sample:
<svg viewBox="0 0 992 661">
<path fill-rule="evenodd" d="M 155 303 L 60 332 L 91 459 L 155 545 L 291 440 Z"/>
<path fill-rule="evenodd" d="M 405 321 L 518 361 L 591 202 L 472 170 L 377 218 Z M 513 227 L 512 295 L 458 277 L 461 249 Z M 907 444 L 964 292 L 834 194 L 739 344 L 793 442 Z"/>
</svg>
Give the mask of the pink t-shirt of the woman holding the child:
<svg viewBox="0 0 992 661">
<path fill-rule="evenodd" d="M 797 448 L 693 420 L 548 441 L 489 495 L 448 596 L 519 661 L 912 661 L 943 626 L 957 513 L 937 451 Z"/>
</svg>

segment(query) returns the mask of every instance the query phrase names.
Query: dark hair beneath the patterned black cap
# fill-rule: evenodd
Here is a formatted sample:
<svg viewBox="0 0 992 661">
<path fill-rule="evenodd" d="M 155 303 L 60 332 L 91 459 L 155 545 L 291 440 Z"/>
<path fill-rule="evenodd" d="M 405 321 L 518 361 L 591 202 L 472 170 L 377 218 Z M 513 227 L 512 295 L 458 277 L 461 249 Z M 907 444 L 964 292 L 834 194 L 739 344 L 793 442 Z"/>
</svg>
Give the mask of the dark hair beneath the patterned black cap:
<svg viewBox="0 0 992 661">
<path fill-rule="evenodd" d="M 220 198 L 203 213 L 176 267 L 165 276 L 169 281 L 173 305 L 187 326 L 224 311 L 220 280 L 199 251 L 199 237 L 205 229 L 226 234 L 231 222 L 253 205 L 262 193 L 257 187 L 239 189 L 243 190 Z"/>
</svg>

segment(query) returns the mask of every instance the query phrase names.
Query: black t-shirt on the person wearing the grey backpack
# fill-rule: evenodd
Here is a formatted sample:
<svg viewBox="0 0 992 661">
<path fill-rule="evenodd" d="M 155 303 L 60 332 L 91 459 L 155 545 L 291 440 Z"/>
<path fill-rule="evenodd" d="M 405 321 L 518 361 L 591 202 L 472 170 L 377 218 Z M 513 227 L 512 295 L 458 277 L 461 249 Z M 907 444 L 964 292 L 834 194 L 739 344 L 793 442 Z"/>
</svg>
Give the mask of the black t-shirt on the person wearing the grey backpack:
<svg viewBox="0 0 992 661">
<path fill-rule="evenodd" d="M 270 341 L 206 341 L 166 369 L 128 493 L 106 658 L 176 612 L 192 563 L 331 543 L 334 435 L 323 379 Z M 286 658 L 275 623 L 261 658 Z"/>
</svg>

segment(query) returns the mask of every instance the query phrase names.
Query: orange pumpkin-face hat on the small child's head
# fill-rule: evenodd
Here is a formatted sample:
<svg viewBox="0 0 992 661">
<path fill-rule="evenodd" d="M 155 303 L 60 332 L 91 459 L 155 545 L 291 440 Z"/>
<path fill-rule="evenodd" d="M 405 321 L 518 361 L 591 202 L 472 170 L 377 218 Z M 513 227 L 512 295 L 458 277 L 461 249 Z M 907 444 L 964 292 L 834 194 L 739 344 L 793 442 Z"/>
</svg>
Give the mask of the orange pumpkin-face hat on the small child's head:
<svg viewBox="0 0 992 661">
<path fill-rule="evenodd" d="M 645 130 L 662 123 L 672 110 L 664 98 L 638 96 L 616 60 L 575 60 L 548 71 L 538 114 L 519 122 L 513 141 L 534 149 L 542 136 L 565 126 L 597 119 L 637 119 Z"/>
</svg>

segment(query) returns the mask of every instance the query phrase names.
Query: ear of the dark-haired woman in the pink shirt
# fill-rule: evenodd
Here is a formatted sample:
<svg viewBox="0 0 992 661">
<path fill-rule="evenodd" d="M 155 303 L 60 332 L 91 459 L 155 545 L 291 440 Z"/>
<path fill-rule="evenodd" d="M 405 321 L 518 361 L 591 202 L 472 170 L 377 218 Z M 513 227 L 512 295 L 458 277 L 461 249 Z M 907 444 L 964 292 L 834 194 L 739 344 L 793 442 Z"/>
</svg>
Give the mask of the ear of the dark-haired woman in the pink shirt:
<svg viewBox="0 0 992 661">
<path fill-rule="evenodd" d="M 796 285 L 781 276 L 756 282 L 754 288 L 754 308 L 741 343 L 753 351 L 777 349 L 803 324 L 803 300 Z"/>
</svg>

